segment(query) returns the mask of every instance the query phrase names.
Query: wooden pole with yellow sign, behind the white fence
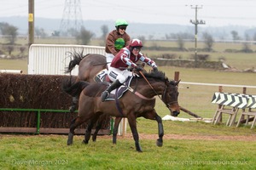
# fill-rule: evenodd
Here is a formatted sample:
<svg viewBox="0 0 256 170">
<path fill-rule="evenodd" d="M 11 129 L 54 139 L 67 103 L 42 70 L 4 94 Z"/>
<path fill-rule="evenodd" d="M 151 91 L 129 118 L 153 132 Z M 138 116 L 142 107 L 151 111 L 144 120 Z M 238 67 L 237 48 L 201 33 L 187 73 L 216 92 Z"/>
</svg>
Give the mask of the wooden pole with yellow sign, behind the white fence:
<svg viewBox="0 0 256 170">
<path fill-rule="evenodd" d="M 34 0 L 28 0 L 28 48 L 34 43 Z"/>
</svg>

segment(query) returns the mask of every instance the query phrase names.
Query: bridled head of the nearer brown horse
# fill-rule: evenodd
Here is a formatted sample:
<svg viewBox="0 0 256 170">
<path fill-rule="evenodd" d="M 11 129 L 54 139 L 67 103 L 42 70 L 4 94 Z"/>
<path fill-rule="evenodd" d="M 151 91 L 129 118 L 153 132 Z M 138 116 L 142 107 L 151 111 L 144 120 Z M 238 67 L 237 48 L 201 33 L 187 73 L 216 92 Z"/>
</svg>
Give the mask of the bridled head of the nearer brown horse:
<svg viewBox="0 0 256 170">
<path fill-rule="evenodd" d="M 177 116 L 179 114 L 179 105 L 177 102 L 178 92 L 177 84 L 179 81 L 166 80 L 166 89 L 162 94 L 162 100 L 165 102 L 168 109 L 171 111 L 171 116 Z"/>
</svg>

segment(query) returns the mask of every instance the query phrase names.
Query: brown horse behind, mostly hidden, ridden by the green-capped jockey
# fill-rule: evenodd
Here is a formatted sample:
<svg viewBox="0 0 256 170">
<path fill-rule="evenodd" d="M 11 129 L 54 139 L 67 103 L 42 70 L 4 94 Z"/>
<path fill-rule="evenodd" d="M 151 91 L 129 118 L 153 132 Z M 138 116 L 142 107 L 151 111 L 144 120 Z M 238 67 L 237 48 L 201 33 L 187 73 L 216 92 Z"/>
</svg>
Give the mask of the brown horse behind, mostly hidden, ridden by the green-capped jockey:
<svg viewBox="0 0 256 170">
<path fill-rule="evenodd" d="M 69 52 L 70 60 L 68 67 L 66 68 L 66 73 L 70 73 L 73 71 L 73 68 L 76 65 L 79 65 L 79 75 L 75 82 L 86 81 L 95 83 L 96 74 L 107 66 L 106 57 L 102 54 L 83 54 L 83 51 L 78 52 Z M 79 101 L 79 94 L 73 96 L 73 103 L 70 106 L 70 111 L 73 112 L 76 109 L 76 105 Z M 96 141 L 96 135 L 102 127 L 102 123 L 108 120 L 109 116 L 102 116 L 96 125 L 96 131 L 92 136 L 92 140 Z M 113 144 L 116 144 L 116 138 L 118 133 L 119 122 L 121 122 L 122 117 L 116 117 L 114 121 L 113 127 Z"/>
</svg>

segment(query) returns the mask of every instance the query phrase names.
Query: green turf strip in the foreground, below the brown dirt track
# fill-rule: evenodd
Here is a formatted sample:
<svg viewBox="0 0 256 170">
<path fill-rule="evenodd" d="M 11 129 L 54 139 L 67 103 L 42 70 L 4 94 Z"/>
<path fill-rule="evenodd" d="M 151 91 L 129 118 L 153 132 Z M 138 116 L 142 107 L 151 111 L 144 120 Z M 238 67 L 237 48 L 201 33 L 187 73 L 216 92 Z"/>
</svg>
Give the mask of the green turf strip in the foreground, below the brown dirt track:
<svg viewBox="0 0 256 170">
<path fill-rule="evenodd" d="M 163 147 L 155 139 L 142 139 L 137 153 L 132 139 L 99 137 L 96 143 L 72 146 L 65 135 L 1 135 L 2 169 L 254 169 L 256 144 L 249 141 L 166 139 Z"/>
</svg>

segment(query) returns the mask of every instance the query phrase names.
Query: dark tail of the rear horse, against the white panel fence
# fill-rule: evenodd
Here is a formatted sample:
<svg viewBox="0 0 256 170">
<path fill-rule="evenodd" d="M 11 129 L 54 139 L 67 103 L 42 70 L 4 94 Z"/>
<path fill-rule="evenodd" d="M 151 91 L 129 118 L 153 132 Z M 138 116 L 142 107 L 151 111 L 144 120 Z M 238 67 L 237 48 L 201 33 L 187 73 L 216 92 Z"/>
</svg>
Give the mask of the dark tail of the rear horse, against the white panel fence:
<svg viewBox="0 0 256 170">
<path fill-rule="evenodd" d="M 66 71 L 65 73 L 71 73 L 71 71 L 73 70 L 73 68 L 76 65 L 79 65 L 80 61 L 82 59 L 84 59 L 84 57 L 86 57 L 89 54 L 84 55 L 84 50 L 82 50 L 80 53 L 74 51 L 74 52 L 67 52 L 68 56 L 70 56 L 71 58 L 73 58 L 70 62 L 69 65 L 66 67 Z"/>
</svg>

